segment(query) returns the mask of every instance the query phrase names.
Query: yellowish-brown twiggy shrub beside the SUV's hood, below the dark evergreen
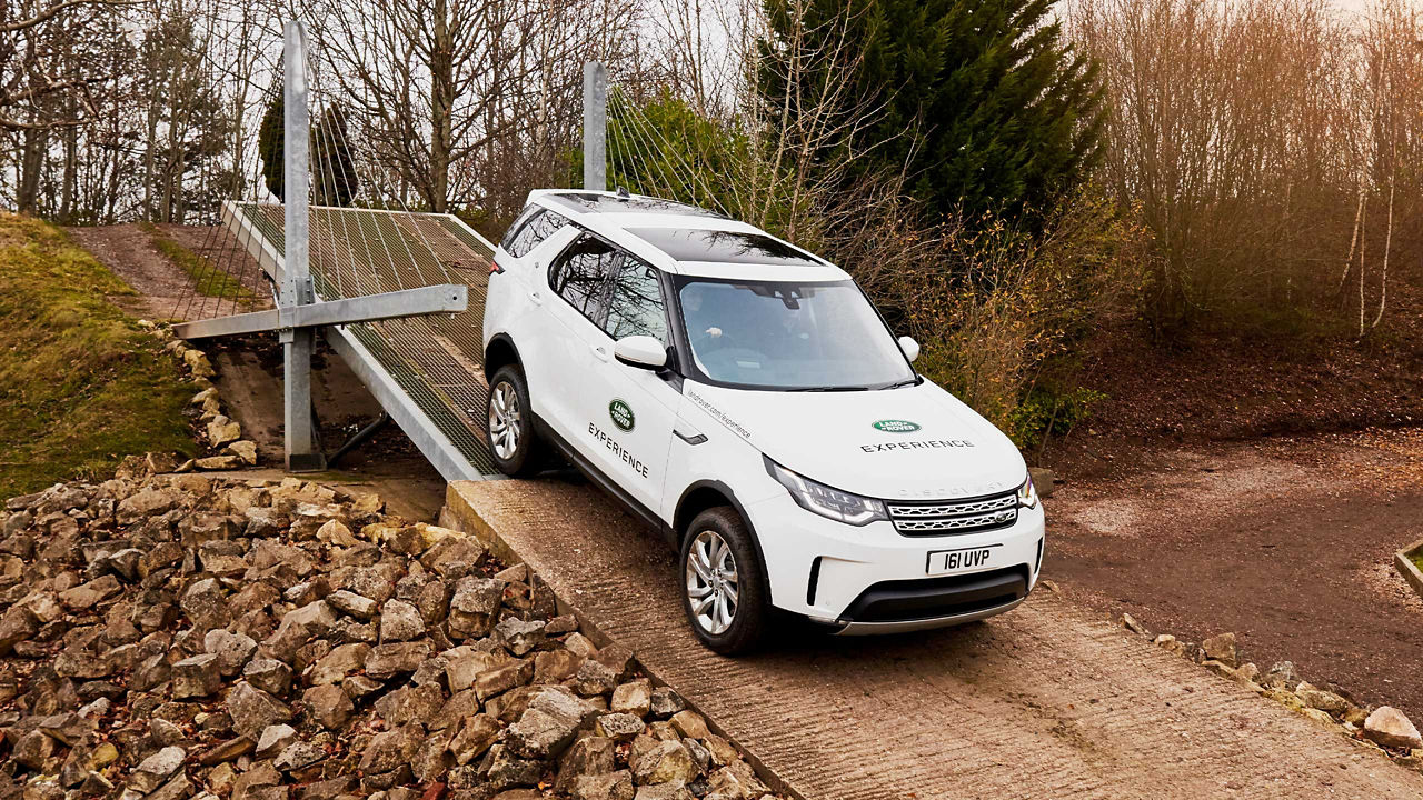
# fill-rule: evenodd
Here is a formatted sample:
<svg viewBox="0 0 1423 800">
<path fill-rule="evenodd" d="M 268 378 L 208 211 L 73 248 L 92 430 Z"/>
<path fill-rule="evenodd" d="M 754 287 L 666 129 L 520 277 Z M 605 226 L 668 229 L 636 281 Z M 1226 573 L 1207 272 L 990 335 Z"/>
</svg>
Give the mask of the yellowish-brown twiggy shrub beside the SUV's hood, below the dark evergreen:
<svg viewBox="0 0 1423 800">
<path fill-rule="evenodd" d="M 875 249 L 914 258 L 864 252 L 852 268 L 894 326 L 921 342 L 918 369 L 1019 444 L 1066 433 L 1100 399 L 1049 391 L 1040 376 L 1091 332 L 1137 313 L 1153 258 L 1150 236 L 1093 195 L 1047 219 L 1042 235 L 993 219 L 905 226 Z"/>
</svg>

